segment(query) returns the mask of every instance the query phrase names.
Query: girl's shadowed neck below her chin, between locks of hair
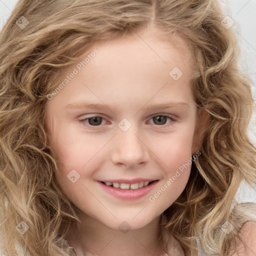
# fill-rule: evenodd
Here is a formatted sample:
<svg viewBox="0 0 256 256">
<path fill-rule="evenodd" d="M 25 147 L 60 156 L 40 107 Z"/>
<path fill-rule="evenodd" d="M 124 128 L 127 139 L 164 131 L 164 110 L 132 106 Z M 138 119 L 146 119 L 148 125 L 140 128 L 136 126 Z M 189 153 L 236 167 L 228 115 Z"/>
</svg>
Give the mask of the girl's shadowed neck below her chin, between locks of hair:
<svg viewBox="0 0 256 256">
<path fill-rule="evenodd" d="M 142 228 L 127 232 L 112 229 L 88 215 L 79 218 L 81 223 L 71 224 L 65 235 L 76 256 L 160 256 L 164 253 L 159 246 L 160 216 Z"/>
</svg>

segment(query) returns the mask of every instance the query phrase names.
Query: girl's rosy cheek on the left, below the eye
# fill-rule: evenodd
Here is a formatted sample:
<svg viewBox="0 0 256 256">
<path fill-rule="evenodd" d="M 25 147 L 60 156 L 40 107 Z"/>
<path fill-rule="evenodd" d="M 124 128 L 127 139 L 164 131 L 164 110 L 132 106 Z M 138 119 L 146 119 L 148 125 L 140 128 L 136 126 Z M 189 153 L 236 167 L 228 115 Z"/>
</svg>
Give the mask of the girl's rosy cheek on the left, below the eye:
<svg viewBox="0 0 256 256">
<path fill-rule="evenodd" d="M 76 187 L 80 185 L 82 178 L 91 176 L 95 171 L 100 159 L 98 158 L 101 153 L 99 150 L 106 143 L 105 139 L 95 139 L 95 137 L 89 135 L 81 135 L 77 131 L 75 132 L 71 128 L 59 129 L 55 139 L 51 144 L 51 148 L 56 156 L 57 171 L 55 173 L 56 179 L 62 186 L 68 186 L 71 189 L 75 189 L 72 186 L 72 179 L 70 176 L 75 176 L 74 180 Z M 103 150 L 100 150 L 100 152 Z M 102 156 L 102 155 L 101 155 Z M 77 178 L 78 177 L 78 178 Z M 81 177 L 81 178 L 80 178 Z M 70 183 L 71 182 L 71 183 Z M 73 187 L 73 188 L 72 188 Z"/>
</svg>

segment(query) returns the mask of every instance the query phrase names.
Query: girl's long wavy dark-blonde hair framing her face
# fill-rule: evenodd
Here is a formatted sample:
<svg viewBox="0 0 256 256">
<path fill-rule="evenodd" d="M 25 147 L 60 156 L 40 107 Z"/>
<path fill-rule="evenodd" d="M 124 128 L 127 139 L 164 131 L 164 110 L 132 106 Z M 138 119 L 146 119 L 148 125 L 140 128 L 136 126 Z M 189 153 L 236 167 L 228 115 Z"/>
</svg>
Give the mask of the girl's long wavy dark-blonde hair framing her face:
<svg viewBox="0 0 256 256">
<path fill-rule="evenodd" d="M 21 16 L 24 27 L 18 26 Z M 24 255 L 68 255 L 63 224 L 79 219 L 54 177 L 44 125 L 47 94 L 61 69 L 96 40 L 150 22 L 191 45 L 193 96 L 210 116 L 188 183 L 164 211 L 161 237 L 173 234 L 185 255 L 197 255 L 195 238 L 205 253 L 229 255 L 242 223 L 256 221 L 254 203 L 236 204 L 230 212 L 239 183 L 256 184 L 256 148 L 246 135 L 251 80 L 238 68 L 237 41 L 223 17 L 216 0 L 18 1 L 0 33 L 0 242 L 6 255 L 16 254 L 15 244 Z M 24 234 L 16 231 L 20 221 L 29 226 Z M 225 221 L 234 226 L 229 234 L 220 228 Z"/>
</svg>

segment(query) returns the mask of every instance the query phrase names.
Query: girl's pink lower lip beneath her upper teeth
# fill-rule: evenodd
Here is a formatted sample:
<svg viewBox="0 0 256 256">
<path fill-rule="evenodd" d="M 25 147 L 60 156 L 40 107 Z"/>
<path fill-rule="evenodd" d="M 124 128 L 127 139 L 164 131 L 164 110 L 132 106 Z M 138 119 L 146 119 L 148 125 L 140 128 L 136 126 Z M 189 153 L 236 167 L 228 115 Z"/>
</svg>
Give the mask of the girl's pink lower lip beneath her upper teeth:
<svg viewBox="0 0 256 256">
<path fill-rule="evenodd" d="M 111 195 L 118 197 L 120 199 L 138 199 L 145 196 L 158 182 L 158 180 L 153 181 L 147 186 L 143 186 L 138 189 L 121 189 L 116 187 L 107 186 L 100 181 L 98 181 L 101 187 Z"/>
</svg>

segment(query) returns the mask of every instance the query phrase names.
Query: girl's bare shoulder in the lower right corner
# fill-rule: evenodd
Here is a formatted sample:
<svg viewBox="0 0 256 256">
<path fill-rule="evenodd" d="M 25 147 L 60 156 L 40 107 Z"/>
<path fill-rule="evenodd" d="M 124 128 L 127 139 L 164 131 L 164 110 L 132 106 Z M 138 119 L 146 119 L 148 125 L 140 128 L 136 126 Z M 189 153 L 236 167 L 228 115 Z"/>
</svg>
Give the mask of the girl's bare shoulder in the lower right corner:
<svg viewBox="0 0 256 256">
<path fill-rule="evenodd" d="M 245 222 L 238 235 L 241 240 L 237 239 L 235 251 L 233 251 L 231 256 L 256 255 L 256 222 Z"/>
</svg>

